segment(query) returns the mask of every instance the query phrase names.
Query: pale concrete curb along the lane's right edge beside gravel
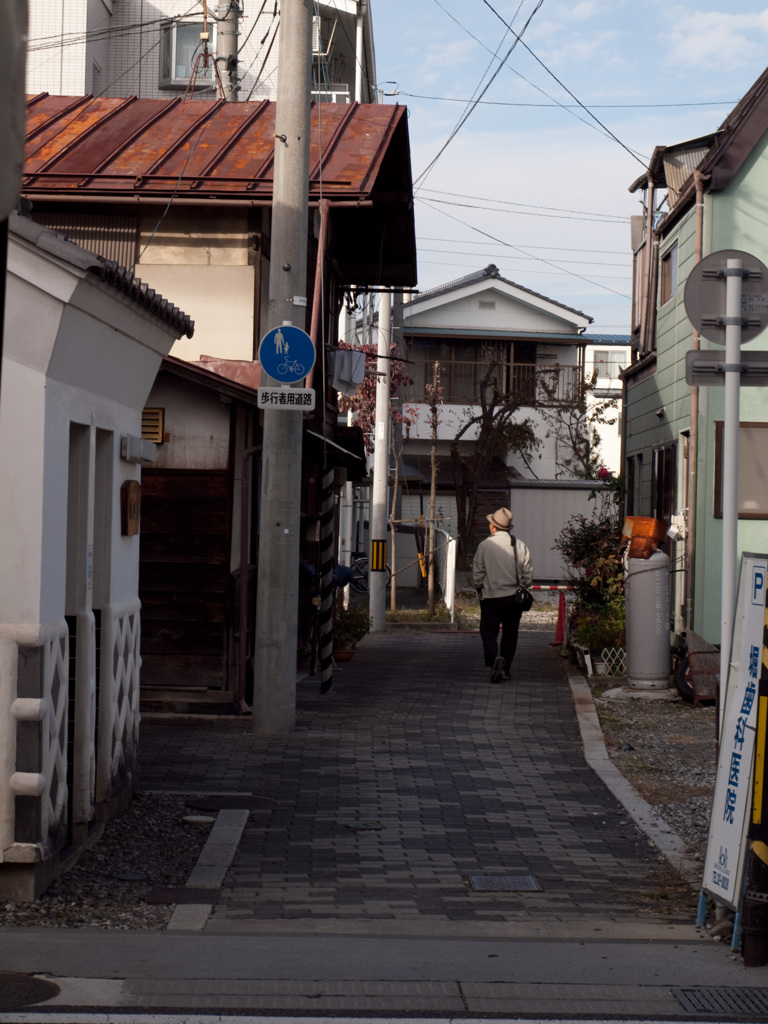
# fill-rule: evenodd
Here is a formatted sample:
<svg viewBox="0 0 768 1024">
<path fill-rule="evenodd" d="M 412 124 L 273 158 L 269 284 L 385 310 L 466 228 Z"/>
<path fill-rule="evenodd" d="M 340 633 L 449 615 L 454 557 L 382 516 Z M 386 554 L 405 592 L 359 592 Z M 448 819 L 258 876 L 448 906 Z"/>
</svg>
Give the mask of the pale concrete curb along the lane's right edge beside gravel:
<svg viewBox="0 0 768 1024">
<path fill-rule="evenodd" d="M 584 676 L 566 666 L 566 675 L 575 705 L 579 729 L 587 764 L 623 805 L 630 817 L 669 860 L 675 870 L 697 892 L 701 877 L 686 856 L 685 844 L 635 790 L 610 760 L 592 691 Z"/>
</svg>

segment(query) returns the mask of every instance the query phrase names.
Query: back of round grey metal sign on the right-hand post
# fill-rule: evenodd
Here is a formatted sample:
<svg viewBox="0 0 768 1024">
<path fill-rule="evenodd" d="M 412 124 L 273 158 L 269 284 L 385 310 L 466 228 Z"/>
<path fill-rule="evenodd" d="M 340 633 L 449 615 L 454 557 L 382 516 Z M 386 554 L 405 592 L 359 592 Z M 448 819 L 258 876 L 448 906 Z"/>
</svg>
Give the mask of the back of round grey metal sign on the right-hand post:
<svg viewBox="0 0 768 1024">
<path fill-rule="evenodd" d="M 768 327 L 768 267 L 757 256 L 739 249 L 711 253 L 693 267 L 685 283 L 685 312 L 702 338 L 725 344 L 725 289 L 723 271 L 729 259 L 741 260 L 748 271 L 741 279 L 741 342 L 752 341 Z"/>
</svg>

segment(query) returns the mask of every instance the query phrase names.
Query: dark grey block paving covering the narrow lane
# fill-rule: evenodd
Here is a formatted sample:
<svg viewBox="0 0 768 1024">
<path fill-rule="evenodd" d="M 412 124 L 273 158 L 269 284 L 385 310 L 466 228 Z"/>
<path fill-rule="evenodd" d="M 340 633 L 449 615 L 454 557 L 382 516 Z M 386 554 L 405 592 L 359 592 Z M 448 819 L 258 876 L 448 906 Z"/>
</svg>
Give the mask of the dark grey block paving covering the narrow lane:
<svg viewBox="0 0 768 1024">
<path fill-rule="evenodd" d="M 299 684 L 287 736 L 144 720 L 143 788 L 240 794 L 251 811 L 211 925 L 638 912 L 659 857 L 585 764 L 550 634 L 521 633 L 500 685 L 476 634 L 370 635 L 329 693 Z M 502 874 L 541 891 L 468 882 Z"/>
</svg>

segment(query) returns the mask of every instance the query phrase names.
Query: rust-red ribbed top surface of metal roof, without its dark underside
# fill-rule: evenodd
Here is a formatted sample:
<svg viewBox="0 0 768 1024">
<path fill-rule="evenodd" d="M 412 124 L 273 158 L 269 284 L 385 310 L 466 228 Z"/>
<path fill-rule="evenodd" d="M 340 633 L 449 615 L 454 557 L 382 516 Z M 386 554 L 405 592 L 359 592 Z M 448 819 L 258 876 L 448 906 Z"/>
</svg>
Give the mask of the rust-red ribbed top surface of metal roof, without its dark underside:
<svg viewBox="0 0 768 1024">
<path fill-rule="evenodd" d="M 310 199 L 368 200 L 403 106 L 313 103 Z M 271 198 L 274 103 L 33 96 L 24 191 Z M 410 170 L 410 168 L 409 168 Z M 401 184 L 410 186 L 408 181 Z"/>
</svg>

